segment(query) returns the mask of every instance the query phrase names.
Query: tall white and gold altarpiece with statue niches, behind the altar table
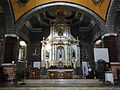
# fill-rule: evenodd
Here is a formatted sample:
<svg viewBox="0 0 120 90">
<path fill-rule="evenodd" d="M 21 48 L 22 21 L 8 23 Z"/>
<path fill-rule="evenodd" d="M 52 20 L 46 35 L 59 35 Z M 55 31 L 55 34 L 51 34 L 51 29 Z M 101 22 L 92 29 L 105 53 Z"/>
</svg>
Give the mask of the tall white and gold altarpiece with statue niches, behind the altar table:
<svg viewBox="0 0 120 90">
<path fill-rule="evenodd" d="M 66 23 L 53 24 L 50 35 L 43 37 L 41 48 L 41 64 L 47 68 L 59 66 L 80 67 L 79 39 L 71 35 L 71 28 Z M 41 65 L 42 66 L 42 65 Z"/>
</svg>

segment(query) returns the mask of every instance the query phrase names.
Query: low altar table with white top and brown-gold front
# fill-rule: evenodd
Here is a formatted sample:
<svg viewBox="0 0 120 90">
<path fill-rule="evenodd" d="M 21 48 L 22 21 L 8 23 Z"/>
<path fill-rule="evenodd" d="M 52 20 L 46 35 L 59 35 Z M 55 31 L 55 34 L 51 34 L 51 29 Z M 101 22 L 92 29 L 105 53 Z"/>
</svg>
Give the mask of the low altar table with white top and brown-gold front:
<svg viewBox="0 0 120 90">
<path fill-rule="evenodd" d="M 48 69 L 48 79 L 73 79 L 74 69 Z"/>
</svg>

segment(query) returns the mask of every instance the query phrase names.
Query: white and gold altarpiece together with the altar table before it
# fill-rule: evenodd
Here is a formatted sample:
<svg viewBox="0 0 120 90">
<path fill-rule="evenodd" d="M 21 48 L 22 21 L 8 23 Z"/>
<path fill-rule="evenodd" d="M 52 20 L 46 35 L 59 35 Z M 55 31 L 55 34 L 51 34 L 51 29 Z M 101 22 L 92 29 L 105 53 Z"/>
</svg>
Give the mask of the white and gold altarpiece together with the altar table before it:
<svg viewBox="0 0 120 90">
<path fill-rule="evenodd" d="M 47 70 L 50 79 L 72 79 L 74 70 L 81 66 L 80 41 L 71 34 L 66 14 L 59 13 L 61 11 L 56 12 L 55 22 L 50 25 L 49 36 L 41 41 L 40 66 Z"/>
</svg>

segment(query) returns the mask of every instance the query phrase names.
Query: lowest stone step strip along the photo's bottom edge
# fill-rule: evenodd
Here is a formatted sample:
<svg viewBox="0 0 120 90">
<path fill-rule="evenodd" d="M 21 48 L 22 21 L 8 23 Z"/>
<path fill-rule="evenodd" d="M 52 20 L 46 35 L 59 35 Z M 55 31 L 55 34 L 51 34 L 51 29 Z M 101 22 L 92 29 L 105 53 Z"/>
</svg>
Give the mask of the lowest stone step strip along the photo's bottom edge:
<svg viewBox="0 0 120 90">
<path fill-rule="evenodd" d="M 0 90 L 120 90 L 119 87 L 9 87 Z"/>
</svg>

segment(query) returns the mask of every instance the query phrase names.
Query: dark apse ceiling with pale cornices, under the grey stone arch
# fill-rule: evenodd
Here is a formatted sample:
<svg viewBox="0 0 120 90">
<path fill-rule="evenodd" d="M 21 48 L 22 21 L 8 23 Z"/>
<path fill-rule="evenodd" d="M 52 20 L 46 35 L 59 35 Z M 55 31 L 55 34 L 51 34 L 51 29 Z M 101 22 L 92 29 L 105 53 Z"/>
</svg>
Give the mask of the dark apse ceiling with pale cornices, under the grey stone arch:
<svg viewBox="0 0 120 90">
<path fill-rule="evenodd" d="M 60 18 L 63 18 L 66 23 L 70 24 L 72 29 L 79 31 L 89 30 L 95 25 L 95 22 L 89 16 L 78 11 L 54 10 L 35 14 L 26 22 L 26 26 L 31 32 L 43 32 L 44 28 L 48 27 L 49 29 L 49 26 Z"/>
</svg>

